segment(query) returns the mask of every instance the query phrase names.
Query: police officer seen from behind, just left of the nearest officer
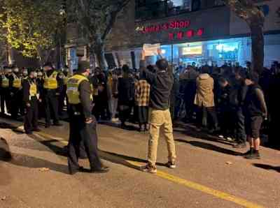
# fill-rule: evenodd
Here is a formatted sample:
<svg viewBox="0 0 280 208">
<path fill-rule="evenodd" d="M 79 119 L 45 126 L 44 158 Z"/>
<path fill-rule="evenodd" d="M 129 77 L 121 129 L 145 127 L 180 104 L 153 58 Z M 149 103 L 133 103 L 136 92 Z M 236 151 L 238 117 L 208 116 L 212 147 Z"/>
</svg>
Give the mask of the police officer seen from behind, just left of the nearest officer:
<svg viewBox="0 0 280 208">
<path fill-rule="evenodd" d="M 51 114 L 53 115 L 53 125 L 62 126 L 59 124 L 58 117 L 58 98 L 59 86 L 58 86 L 58 73 L 52 67 L 51 63 L 47 63 L 43 66 L 45 71 L 43 76 L 43 103 L 45 106 L 45 128 L 50 127 Z"/>
</svg>

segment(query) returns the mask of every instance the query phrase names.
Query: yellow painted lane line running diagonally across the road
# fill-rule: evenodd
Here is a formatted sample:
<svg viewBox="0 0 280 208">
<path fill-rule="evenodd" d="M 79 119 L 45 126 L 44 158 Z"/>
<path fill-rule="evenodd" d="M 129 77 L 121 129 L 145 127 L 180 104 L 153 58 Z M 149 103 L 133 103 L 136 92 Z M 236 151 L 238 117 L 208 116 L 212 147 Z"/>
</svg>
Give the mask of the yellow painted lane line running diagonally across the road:
<svg viewBox="0 0 280 208">
<path fill-rule="evenodd" d="M 37 133 L 37 134 L 41 135 L 43 138 L 47 138 L 49 140 L 57 140 L 52 135 L 49 135 L 47 133 L 41 133 L 40 132 L 40 133 Z M 59 138 L 59 139 L 62 139 L 62 138 Z M 57 142 L 60 142 L 62 144 L 68 144 L 68 141 L 63 140 L 63 139 L 62 140 L 57 140 Z M 118 157 L 118 156 L 115 156 L 115 157 Z M 129 160 L 127 160 L 126 162 L 130 163 L 131 165 L 138 166 L 139 168 L 141 167 L 141 163 L 139 163 L 139 162 L 129 161 Z M 261 205 L 257 205 L 257 204 L 255 204 L 253 202 L 249 202 L 249 201 L 244 200 L 242 198 L 235 197 L 234 195 L 230 195 L 230 194 L 225 193 L 223 191 L 218 191 L 218 190 L 215 190 L 213 188 L 209 188 L 207 186 L 203 186 L 201 184 L 197 184 L 197 183 L 195 183 L 193 181 L 188 181 L 186 179 L 182 179 L 180 177 L 176 177 L 176 176 L 174 176 L 172 174 L 169 174 L 167 172 L 162 172 L 162 171 L 158 170 L 156 175 L 158 177 L 162 178 L 162 179 L 167 179 L 167 180 L 172 181 L 172 182 L 174 182 L 176 184 L 180 184 L 180 185 L 186 186 L 187 188 L 192 188 L 192 189 L 195 189 L 197 191 L 201 191 L 203 193 L 207 193 L 209 195 L 213 195 L 216 198 L 220 198 L 220 199 L 223 199 L 223 200 L 234 202 L 235 204 L 241 205 L 242 207 L 264 208 Z"/>
</svg>

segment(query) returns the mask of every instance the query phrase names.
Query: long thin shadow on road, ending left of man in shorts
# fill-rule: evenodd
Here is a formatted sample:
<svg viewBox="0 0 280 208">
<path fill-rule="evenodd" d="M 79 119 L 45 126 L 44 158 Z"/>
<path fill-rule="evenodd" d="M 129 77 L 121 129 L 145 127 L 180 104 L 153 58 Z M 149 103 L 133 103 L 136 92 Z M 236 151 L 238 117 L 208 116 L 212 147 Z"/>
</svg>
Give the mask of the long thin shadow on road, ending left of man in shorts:
<svg viewBox="0 0 280 208">
<path fill-rule="evenodd" d="M 232 151 L 230 149 L 224 149 L 222 147 L 218 147 L 214 144 L 209 144 L 209 143 L 204 143 L 204 142 L 197 142 L 197 141 L 186 141 L 186 140 L 175 140 L 176 142 L 183 142 L 183 143 L 187 143 L 187 144 L 191 144 L 195 147 L 200 147 L 200 148 L 203 148 L 203 149 L 208 149 L 208 150 L 211 150 L 211 151 L 218 151 L 220 153 L 223 153 L 223 154 L 229 154 L 229 155 L 232 155 L 232 156 L 241 156 L 242 154 L 240 152 L 237 152 L 237 151 Z"/>
</svg>

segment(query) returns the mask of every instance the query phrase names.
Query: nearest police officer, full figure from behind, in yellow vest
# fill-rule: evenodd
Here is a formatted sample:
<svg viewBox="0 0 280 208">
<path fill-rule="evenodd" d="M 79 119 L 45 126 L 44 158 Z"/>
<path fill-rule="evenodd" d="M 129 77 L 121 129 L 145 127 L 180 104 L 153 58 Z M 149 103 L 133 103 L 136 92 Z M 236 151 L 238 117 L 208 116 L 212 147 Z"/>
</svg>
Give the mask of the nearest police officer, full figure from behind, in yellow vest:
<svg viewBox="0 0 280 208">
<path fill-rule="evenodd" d="M 102 165 L 97 152 L 97 121 L 92 112 L 92 99 L 88 76 L 90 68 L 80 66 L 78 73 L 67 82 L 69 100 L 70 136 L 68 144 L 69 173 L 75 174 L 83 170 L 78 164 L 80 146 L 85 147 L 90 161 L 90 172 L 108 172 L 109 168 Z"/>
</svg>

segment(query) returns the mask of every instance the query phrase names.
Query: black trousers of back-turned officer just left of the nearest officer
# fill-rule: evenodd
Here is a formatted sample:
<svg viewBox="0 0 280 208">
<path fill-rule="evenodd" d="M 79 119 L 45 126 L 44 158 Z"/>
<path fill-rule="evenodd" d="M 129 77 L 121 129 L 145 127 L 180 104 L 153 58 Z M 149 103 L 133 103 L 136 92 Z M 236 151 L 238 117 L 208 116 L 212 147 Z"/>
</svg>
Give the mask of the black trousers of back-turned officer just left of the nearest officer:
<svg viewBox="0 0 280 208">
<path fill-rule="evenodd" d="M 53 123 L 59 123 L 58 117 L 58 98 L 55 92 L 50 92 L 43 97 L 45 106 L 45 124 L 50 125 L 50 119 L 53 117 Z"/>
</svg>

